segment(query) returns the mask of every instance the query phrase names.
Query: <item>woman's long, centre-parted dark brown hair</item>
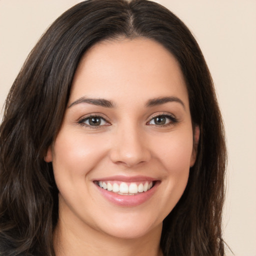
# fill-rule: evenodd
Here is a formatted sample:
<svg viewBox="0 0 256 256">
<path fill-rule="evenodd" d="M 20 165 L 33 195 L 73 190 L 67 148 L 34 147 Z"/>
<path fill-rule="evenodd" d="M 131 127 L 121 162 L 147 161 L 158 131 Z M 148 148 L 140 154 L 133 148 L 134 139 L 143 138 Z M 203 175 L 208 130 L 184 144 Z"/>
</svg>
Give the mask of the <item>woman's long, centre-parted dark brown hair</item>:
<svg viewBox="0 0 256 256">
<path fill-rule="evenodd" d="M 183 22 L 146 0 L 78 3 L 56 19 L 26 59 L 7 96 L 0 126 L 1 255 L 54 255 L 58 191 L 52 165 L 43 157 L 60 128 L 81 56 L 96 42 L 120 36 L 151 38 L 176 57 L 192 122 L 200 127 L 187 186 L 163 221 L 162 251 L 172 256 L 224 255 L 226 150 L 211 76 Z"/>
</svg>

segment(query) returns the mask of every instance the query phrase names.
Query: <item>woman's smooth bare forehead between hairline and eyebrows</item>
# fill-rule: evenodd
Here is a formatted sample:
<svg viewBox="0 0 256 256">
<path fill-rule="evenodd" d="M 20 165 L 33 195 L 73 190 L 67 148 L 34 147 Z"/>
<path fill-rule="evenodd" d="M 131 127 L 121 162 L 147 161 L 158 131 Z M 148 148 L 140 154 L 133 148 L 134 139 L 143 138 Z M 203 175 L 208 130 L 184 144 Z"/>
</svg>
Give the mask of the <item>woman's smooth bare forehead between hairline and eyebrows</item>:
<svg viewBox="0 0 256 256">
<path fill-rule="evenodd" d="M 81 96 L 117 100 L 178 96 L 188 101 L 183 74 L 175 57 L 148 38 L 101 41 L 81 58 L 70 101 Z"/>
</svg>

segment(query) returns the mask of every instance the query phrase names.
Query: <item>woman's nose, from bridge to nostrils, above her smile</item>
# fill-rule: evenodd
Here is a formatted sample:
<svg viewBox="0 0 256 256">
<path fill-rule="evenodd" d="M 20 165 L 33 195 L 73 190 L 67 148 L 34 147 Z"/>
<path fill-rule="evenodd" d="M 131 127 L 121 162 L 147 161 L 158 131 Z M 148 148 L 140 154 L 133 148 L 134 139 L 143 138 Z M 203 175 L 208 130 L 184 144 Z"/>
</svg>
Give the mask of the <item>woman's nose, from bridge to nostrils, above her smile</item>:
<svg viewBox="0 0 256 256">
<path fill-rule="evenodd" d="M 112 162 L 134 167 L 137 164 L 148 162 L 150 158 L 147 139 L 138 128 L 126 127 L 116 131 L 110 151 Z"/>
</svg>

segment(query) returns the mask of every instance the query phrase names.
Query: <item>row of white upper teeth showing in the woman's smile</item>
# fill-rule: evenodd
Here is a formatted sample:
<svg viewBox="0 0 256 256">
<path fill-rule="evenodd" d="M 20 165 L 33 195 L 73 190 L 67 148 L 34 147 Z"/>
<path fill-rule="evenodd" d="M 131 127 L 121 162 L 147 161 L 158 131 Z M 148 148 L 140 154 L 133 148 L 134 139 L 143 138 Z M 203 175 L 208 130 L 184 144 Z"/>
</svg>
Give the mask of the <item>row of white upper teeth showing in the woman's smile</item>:
<svg viewBox="0 0 256 256">
<path fill-rule="evenodd" d="M 108 191 L 124 194 L 136 194 L 138 192 L 145 192 L 153 186 L 153 182 L 146 181 L 144 184 L 141 182 L 136 184 L 135 182 L 126 183 L 121 182 L 120 184 L 110 181 L 98 181 L 98 185 Z"/>
</svg>

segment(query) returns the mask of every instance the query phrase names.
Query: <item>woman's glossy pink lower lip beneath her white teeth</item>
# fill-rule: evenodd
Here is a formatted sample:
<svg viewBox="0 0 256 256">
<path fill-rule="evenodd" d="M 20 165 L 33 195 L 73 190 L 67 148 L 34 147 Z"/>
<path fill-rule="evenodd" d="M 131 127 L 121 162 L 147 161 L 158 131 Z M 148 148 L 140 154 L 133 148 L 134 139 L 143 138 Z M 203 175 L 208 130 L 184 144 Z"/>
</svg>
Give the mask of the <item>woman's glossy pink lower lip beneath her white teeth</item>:
<svg viewBox="0 0 256 256">
<path fill-rule="evenodd" d="M 158 185 L 160 182 L 156 182 L 152 188 L 147 190 L 146 192 L 142 192 L 135 195 L 121 195 L 117 194 L 111 191 L 108 191 L 106 189 L 103 189 L 99 187 L 97 184 L 95 184 L 98 188 L 98 190 L 101 192 L 101 194 L 110 202 L 117 204 L 119 206 L 137 206 L 140 205 L 147 200 L 149 200 L 154 192 L 156 191 Z"/>
</svg>

